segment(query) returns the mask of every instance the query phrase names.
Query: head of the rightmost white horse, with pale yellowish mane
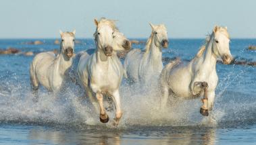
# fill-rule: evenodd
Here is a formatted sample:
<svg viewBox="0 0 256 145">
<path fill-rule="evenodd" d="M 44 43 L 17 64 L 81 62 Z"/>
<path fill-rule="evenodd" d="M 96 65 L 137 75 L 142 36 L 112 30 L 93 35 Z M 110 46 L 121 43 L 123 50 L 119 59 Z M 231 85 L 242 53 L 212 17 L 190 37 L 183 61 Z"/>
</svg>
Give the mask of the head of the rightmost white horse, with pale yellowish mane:
<svg viewBox="0 0 256 145">
<path fill-rule="evenodd" d="M 215 26 L 213 28 L 213 53 L 221 57 L 224 64 L 230 64 L 232 55 L 230 53 L 230 37 L 228 28 Z"/>
</svg>

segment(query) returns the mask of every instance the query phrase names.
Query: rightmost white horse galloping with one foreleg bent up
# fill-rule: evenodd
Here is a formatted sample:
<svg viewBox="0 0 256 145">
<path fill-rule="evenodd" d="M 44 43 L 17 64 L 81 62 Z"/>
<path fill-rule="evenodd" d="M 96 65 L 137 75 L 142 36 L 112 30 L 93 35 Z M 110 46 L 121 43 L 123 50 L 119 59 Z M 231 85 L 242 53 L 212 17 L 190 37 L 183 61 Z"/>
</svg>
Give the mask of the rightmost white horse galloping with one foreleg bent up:
<svg viewBox="0 0 256 145">
<path fill-rule="evenodd" d="M 229 34 L 227 28 L 215 26 L 206 44 L 201 47 L 197 56 L 188 64 L 172 61 L 163 68 L 160 75 L 161 107 L 168 102 L 169 91 L 172 97 L 193 99 L 204 95 L 202 115 L 209 115 L 213 107 L 215 88 L 217 86 L 216 61 L 222 58 L 224 64 L 232 61 L 229 48 Z M 172 98 L 174 99 L 174 98 Z"/>
</svg>

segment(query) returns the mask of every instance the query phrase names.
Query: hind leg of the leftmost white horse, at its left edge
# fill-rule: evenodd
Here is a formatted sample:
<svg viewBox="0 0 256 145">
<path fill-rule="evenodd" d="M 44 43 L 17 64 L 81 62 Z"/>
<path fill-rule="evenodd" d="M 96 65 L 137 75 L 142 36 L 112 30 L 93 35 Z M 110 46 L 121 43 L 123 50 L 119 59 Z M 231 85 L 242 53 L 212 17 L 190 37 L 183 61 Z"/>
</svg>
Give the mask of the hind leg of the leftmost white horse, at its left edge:
<svg viewBox="0 0 256 145">
<path fill-rule="evenodd" d="M 37 102 L 39 100 L 39 81 L 36 78 L 36 74 L 34 73 L 34 68 L 32 64 L 30 65 L 30 85 L 32 89 L 32 94 L 34 95 L 33 101 Z"/>
</svg>

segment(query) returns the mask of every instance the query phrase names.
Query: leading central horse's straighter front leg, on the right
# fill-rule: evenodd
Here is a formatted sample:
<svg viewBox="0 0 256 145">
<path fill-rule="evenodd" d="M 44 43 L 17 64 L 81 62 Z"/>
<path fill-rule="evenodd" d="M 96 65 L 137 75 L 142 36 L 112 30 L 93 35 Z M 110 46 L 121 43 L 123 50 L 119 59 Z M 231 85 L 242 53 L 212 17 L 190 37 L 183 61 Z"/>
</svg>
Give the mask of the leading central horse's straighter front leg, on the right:
<svg viewBox="0 0 256 145">
<path fill-rule="evenodd" d="M 113 92 L 113 101 L 116 104 L 116 119 L 115 119 L 115 123 L 113 125 L 118 126 L 119 121 L 122 117 L 119 89 Z"/>
</svg>

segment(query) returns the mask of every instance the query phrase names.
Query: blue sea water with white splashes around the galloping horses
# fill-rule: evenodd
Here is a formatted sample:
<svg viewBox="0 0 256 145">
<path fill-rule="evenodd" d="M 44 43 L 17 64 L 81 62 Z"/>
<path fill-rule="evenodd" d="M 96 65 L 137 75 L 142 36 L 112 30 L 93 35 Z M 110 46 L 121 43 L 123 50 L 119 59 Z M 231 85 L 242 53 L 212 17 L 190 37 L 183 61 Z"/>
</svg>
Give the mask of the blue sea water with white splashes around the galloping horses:
<svg viewBox="0 0 256 145">
<path fill-rule="evenodd" d="M 31 41 L 0 40 L 0 49 L 11 47 L 35 54 L 59 50 L 53 39 L 41 40 L 41 45 L 27 44 Z M 75 52 L 95 48 L 91 39 L 79 41 Z M 170 39 L 163 58 L 190 60 L 204 42 Z M 256 50 L 247 50 L 249 45 L 256 45 L 256 40 L 232 39 L 230 51 L 238 60 L 256 61 Z M 34 103 L 29 77 L 33 57 L 0 55 L 0 144 L 256 144 L 255 66 L 217 64 L 219 83 L 209 117 L 199 113 L 200 99 L 159 111 L 155 87 L 143 91 L 124 80 L 120 87 L 124 115 L 115 127 L 111 124 L 114 111 L 108 112 L 109 123 L 99 122 L 99 113 L 88 100 L 80 99 L 84 92 L 74 84 L 55 96 L 41 87 L 39 102 Z"/>
</svg>

